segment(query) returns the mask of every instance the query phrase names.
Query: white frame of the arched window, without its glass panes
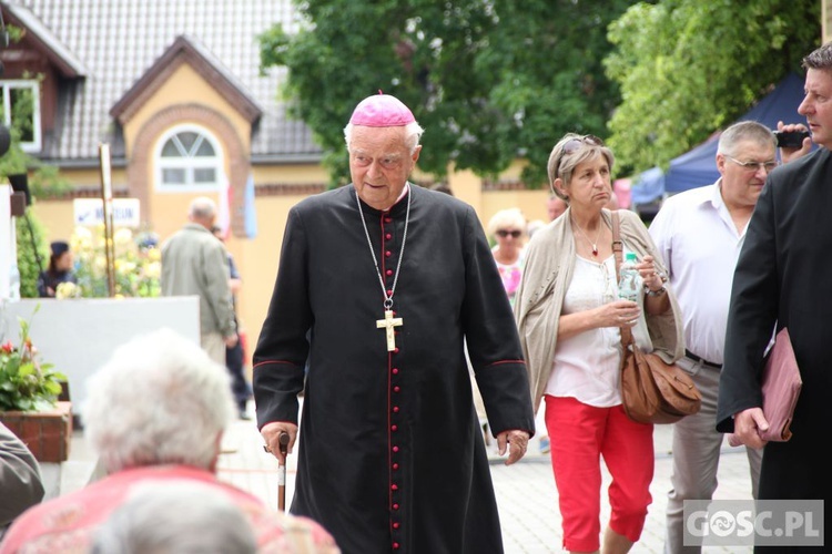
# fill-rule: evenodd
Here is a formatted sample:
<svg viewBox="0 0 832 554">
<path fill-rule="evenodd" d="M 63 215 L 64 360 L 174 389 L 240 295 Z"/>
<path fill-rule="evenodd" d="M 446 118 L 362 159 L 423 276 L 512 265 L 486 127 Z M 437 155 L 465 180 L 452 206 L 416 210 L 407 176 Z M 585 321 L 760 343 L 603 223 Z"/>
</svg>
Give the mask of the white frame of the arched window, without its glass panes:
<svg viewBox="0 0 832 554">
<path fill-rule="evenodd" d="M 162 157 L 162 150 L 172 137 L 180 133 L 196 133 L 207 141 L 214 148 L 213 157 Z M 156 146 L 153 152 L 153 162 L 155 167 L 155 189 L 160 193 L 211 193 L 220 192 L 224 187 L 222 179 L 225 177 L 225 162 L 223 156 L 223 150 L 220 146 L 220 141 L 216 136 L 207 129 L 201 125 L 194 125 L 191 123 L 175 125 L 165 131 L 156 141 Z M 176 162 L 173 162 L 175 160 Z M 164 170 L 176 168 L 185 170 L 185 183 L 184 184 L 165 184 L 163 179 Z M 193 174 L 194 170 L 213 168 L 216 175 L 214 183 L 194 183 Z"/>
</svg>

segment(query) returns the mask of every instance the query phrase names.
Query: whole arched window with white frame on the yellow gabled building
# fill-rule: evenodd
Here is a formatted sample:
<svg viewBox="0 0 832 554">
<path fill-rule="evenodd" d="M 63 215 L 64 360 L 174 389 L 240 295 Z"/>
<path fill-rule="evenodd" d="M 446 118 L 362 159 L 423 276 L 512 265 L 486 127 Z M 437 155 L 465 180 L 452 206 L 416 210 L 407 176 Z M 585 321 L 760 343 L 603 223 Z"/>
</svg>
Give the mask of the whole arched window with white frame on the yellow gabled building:
<svg viewBox="0 0 832 554">
<path fill-rule="evenodd" d="M 155 160 L 162 192 L 219 191 L 225 178 L 219 141 L 196 125 L 179 125 L 162 135 Z"/>
</svg>

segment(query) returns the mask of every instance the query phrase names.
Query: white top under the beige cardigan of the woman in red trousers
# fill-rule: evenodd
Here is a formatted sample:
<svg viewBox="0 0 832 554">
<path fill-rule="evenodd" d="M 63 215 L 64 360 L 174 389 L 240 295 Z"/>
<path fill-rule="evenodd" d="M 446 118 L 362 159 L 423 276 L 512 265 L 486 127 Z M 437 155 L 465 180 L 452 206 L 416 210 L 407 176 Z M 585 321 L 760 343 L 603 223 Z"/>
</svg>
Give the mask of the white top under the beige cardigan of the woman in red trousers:
<svg viewBox="0 0 832 554">
<path fill-rule="evenodd" d="M 572 279 L 564 297 L 564 315 L 597 308 L 618 299 L 616 257 L 601 263 L 577 256 Z M 639 287 L 641 289 L 642 287 Z M 639 298 L 643 309 L 643 293 Z M 633 328 L 636 342 L 642 348 L 647 336 L 643 314 Z M 649 351 L 649 350 L 648 350 Z M 619 371 L 621 363 L 621 334 L 618 327 L 601 327 L 559 339 L 546 394 L 572 397 L 597 408 L 621 403 Z"/>
</svg>

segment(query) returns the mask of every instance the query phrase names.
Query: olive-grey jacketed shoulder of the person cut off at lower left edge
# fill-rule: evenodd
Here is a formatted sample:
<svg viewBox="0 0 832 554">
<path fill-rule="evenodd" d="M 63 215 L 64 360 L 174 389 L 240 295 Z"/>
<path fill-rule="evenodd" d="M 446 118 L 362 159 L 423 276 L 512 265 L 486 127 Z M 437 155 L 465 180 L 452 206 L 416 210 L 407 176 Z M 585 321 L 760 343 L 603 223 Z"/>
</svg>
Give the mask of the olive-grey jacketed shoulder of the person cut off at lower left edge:
<svg viewBox="0 0 832 554">
<path fill-rule="evenodd" d="M 0 423 L 0 538 L 9 524 L 43 500 L 40 465 L 23 441 Z"/>
</svg>

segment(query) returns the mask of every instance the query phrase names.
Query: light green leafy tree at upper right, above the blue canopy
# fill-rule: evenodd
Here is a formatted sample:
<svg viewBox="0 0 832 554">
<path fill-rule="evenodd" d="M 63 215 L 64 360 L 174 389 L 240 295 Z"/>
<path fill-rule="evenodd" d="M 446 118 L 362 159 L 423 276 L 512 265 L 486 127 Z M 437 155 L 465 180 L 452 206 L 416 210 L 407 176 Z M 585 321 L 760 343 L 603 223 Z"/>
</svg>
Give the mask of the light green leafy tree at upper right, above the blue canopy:
<svg viewBox="0 0 832 554">
<path fill-rule="evenodd" d="M 605 60 L 622 101 L 609 144 L 637 173 L 741 116 L 820 45 L 815 0 L 661 0 L 613 22 Z M 797 109 L 797 106 L 795 106 Z M 795 121 L 798 114 L 795 111 Z"/>
</svg>

